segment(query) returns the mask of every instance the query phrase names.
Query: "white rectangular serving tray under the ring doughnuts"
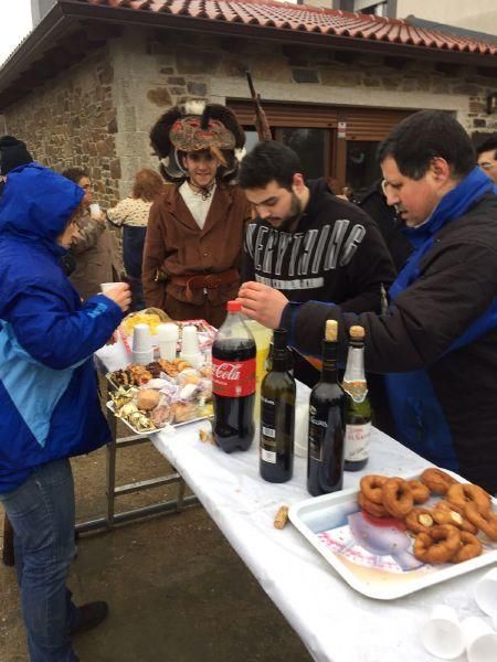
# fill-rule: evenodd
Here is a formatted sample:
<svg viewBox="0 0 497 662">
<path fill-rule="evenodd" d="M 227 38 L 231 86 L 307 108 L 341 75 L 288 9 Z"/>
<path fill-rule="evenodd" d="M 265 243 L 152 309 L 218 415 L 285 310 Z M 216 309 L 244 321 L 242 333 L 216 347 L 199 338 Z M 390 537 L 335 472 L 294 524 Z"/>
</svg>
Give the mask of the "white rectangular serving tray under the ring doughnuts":
<svg viewBox="0 0 497 662">
<path fill-rule="evenodd" d="M 292 505 L 288 515 L 337 573 L 364 596 L 392 600 L 497 562 L 497 543 L 478 536 L 484 542 L 480 556 L 458 564 L 423 564 L 411 553 L 413 538 L 393 520 L 380 526 L 378 519 L 362 514 L 357 493 L 352 489 L 307 499 Z M 497 500 L 491 503 L 497 512 Z"/>
</svg>

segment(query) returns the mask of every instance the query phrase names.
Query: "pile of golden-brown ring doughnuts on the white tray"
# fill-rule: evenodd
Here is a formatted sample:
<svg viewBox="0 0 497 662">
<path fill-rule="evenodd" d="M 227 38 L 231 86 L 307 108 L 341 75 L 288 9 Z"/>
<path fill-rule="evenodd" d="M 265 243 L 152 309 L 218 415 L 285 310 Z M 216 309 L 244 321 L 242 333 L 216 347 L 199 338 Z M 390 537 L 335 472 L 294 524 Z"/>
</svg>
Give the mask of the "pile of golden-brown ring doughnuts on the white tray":
<svg viewBox="0 0 497 662">
<path fill-rule="evenodd" d="M 442 499 L 423 508 L 433 494 Z M 415 538 L 413 554 L 423 563 L 461 563 L 478 556 L 483 551 L 478 532 L 497 541 L 490 495 L 441 469 L 426 469 L 419 480 L 364 476 L 357 500 L 370 515 L 402 520 Z"/>
</svg>

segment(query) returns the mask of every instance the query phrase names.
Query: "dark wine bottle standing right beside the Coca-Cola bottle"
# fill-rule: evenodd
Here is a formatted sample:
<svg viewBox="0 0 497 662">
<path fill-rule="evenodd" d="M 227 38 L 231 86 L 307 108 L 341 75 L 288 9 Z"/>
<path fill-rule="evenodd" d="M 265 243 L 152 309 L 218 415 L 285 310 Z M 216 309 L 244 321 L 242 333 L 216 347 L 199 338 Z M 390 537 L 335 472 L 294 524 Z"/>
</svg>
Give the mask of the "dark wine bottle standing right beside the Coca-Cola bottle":
<svg viewBox="0 0 497 662">
<path fill-rule="evenodd" d="M 286 482 L 294 472 L 296 386 L 286 340 L 285 329 L 274 332 L 271 370 L 261 386 L 260 472 L 268 482 Z"/>
</svg>

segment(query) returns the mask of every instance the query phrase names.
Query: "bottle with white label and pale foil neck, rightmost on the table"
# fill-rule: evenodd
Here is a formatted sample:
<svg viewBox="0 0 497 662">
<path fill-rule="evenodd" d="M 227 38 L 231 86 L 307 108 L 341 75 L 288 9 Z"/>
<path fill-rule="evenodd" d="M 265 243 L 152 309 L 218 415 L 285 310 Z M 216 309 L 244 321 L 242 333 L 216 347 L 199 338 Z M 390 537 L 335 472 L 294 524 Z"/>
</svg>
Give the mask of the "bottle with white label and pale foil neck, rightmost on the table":
<svg viewBox="0 0 497 662">
<path fill-rule="evenodd" d="M 349 353 L 342 387 L 346 392 L 345 470 L 359 471 L 369 458 L 371 404 L 364 374 L 364 329 L 350 327 Z"/>
</svg>

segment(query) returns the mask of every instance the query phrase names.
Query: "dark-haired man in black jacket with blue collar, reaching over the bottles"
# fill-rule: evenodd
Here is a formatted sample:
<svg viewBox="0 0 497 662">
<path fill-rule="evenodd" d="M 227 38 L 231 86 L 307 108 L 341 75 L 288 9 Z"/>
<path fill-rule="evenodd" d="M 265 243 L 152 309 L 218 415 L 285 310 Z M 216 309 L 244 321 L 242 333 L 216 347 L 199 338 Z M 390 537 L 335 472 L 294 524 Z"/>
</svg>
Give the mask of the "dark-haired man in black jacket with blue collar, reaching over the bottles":
<svg viewBox="0 0 497 662">
<path fill-rule="evenodd" d="M 319 355 L 327 319 L 366 328 L 366 369 L 384 373 L 395 436 L 440 467 L 497 491 L 497 196 L 469 137 L 440 110 L 416 113 L 380 146 L 383 190 L 414 250 L 390 288 L 385 314 L 332 303 L 288 303 L 248 282 L 248 317 L 289 330 Z"/>
</svg>

